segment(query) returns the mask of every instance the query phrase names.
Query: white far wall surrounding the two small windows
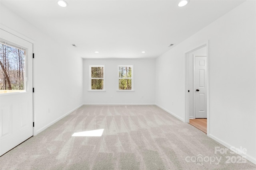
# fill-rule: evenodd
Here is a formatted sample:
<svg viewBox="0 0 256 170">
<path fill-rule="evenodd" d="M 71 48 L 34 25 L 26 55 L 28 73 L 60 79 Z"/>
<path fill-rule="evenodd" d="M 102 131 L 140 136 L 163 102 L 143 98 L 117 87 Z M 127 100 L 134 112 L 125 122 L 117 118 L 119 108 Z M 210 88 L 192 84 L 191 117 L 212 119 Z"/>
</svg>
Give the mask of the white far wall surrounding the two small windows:
<svg viewBox="0 0 256 170">
<path fill-rule="evenodd" d="M 83 63 L 85 104 L 155 103 L 155 59 L 84 59 Z M 105 92 L 88 91 L 90 65 L 105 65 Z M 133 65 L 134 92 L 117 91 L 118 65 Z"/>
</svg>

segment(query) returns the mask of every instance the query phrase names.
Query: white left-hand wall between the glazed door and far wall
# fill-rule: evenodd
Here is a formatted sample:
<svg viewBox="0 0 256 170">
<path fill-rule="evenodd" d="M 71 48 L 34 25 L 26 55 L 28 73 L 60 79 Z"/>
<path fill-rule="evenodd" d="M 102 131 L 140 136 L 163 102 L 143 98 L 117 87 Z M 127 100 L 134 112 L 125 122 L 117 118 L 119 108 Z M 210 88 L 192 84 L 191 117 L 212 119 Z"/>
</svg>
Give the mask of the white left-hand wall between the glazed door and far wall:
<svg viewBox="0 0 256 170">
<path fill-rule="evenodd" d="M 34 135 L 82 104 L 82 59 L 1 5 L 1 28 L 34 40 Z"/>
</svg>

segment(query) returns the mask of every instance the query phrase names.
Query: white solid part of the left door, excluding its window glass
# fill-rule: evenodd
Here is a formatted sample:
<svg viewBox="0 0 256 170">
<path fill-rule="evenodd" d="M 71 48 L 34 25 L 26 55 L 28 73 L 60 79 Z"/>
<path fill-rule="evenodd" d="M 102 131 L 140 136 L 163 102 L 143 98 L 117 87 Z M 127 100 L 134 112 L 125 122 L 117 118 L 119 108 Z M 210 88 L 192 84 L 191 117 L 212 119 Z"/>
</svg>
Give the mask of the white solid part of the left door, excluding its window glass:
<svg viewBox="0 0 256 170">
<path fill-rule="evenodd" d="M 33 136 L 33 46 L 32 43 L 2 29 L 0 29 L 0 39 L 1 45 L 6 43 L 8 47 L 23 50 L 24 53 L 24 68 L 22 68 L 24 90 L 15 92 L 0 90 L 0 155 L 2 155 Z M 9 68 L 9 72 L 10 70 L 12 69 Z"/>
</svg>

